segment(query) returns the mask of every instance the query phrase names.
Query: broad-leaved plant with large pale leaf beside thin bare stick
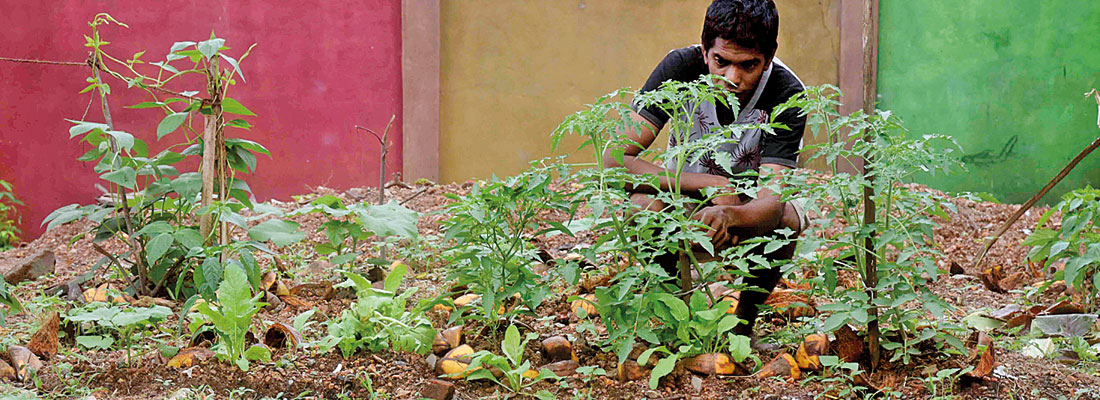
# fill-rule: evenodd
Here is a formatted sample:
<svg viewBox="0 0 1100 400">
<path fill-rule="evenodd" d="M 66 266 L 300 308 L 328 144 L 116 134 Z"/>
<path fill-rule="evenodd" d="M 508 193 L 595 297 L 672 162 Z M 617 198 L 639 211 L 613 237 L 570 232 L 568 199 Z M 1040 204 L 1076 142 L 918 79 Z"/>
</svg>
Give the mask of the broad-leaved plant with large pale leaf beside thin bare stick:
<svg viewBox="0 0 1100 400">
<path fill-rule="evenodd" d="M 361 245 L 372 237 L 417 237 L 418 214 L 396 201 L 382 205 L 344 205 L 338 197 L 322 196 L 290 212 L 290 215 L 306 213 L 320 213 L 328 219 L 318 227 L 318 231 L 324 231 L 328 242 L 316 245 L 314 249 L 329 255 L 336 265 L 355 266 L 354 262 L 364 253 L 360 251 Z"/>
</svg>

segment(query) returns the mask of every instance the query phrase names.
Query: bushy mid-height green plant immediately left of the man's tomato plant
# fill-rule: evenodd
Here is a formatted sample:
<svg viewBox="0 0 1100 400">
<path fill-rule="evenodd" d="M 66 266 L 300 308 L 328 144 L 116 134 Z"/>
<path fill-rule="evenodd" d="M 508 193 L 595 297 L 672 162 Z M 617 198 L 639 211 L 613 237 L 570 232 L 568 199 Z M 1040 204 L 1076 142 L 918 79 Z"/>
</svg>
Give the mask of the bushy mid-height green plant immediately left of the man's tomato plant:
<svg viewBox="0 0 1100 400">
<path fill-rule="evenodd" d="M 550 293 L 549 286 L 531 271 L 538 258 L 530 237 L 570 233 L 565 225 L 544 219 L 550 211 L 572 211 L 566 198 L 550 188 L 556 171 L 534 166 L 507 179 L 477 182 L 466 196 L 449 195 L 454 200 L 447 208 L 452 216 L 444 223 L 446 240 L 453 243 L 451 277 L 481 296 L 474 312 L 457 312 L 452 319 L 482 321 L 495 333 L 502 316 L 519 312 L 513 308 L 499 314 L 514 295 L 535 310 Z"/>
</svg>

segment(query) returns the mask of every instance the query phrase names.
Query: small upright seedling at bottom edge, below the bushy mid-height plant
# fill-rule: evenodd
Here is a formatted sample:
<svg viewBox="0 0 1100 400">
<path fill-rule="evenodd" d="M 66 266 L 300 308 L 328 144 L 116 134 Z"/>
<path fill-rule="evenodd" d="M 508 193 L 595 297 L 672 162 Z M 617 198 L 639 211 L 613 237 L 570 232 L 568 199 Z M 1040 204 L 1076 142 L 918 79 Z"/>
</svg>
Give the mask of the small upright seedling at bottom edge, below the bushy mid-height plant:
<svg viewBox="0 0 1100 400">
<path fill-rule="evenodd" d="M 481 351 L 471 355 L 470 367 L 472 370 L 466 376 L 466 380 L 492 380 L 499 386 L 517 395 L 532 396 L 539 399 L 554 399 L 553 393 L 547 390 L 529 392 L 529 388 L 543 379 L 558 379 L 559 377 L 549 369 L 542 368 L 534 378 L 528 374 L 531 371 L 531 362 L 524 359 L 524 349 L 527 343 L 538 338 L 539 334 L 528 332 L 522 341 L 519 338 L 519 329 L 516 325 L 508 325 L 504 332 L 504 341 L 501 342 L 501 351 L 504 356 L 498 356 L 491 352 Z M 499 371 L 502 378 L 497 378 L 494 371 Z"/>
</svg>

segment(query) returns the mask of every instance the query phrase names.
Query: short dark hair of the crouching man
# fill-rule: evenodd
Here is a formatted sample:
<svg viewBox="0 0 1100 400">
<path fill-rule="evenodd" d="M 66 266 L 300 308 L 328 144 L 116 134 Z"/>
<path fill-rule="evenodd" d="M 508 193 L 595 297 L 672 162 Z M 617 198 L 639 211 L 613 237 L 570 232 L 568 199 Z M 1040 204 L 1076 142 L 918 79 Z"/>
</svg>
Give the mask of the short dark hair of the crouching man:
<svg viewBox="0 0 1100 400">
<path fill-rule="evenodd" d="M 718 37 L 752 48 L 768 59 L 779 46 L 779 12 L 772 0 L 714 0 L 703 21 L 703 49 Z"/>
</svg>

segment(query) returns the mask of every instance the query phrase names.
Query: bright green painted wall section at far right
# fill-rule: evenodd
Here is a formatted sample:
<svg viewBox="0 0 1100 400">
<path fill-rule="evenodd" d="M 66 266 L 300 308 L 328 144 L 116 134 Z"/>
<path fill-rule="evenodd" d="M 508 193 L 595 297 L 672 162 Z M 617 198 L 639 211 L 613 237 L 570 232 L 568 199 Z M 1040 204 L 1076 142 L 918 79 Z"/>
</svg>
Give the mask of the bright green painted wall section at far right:
<svg viewBox="0 0 1100 400">
<path fill-rule="evenodd" d="M 882 0 L 879 107 L 913 135 L 949 134 L 969 168 L 921 177 L 945 191 L 1026 201 L 1100 135 L 1100 1 Z M 1100 154 L 1043 202 L 1100 186 Z"/>
</svg>

